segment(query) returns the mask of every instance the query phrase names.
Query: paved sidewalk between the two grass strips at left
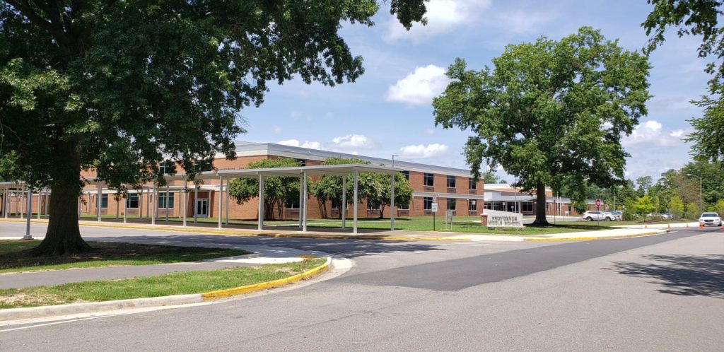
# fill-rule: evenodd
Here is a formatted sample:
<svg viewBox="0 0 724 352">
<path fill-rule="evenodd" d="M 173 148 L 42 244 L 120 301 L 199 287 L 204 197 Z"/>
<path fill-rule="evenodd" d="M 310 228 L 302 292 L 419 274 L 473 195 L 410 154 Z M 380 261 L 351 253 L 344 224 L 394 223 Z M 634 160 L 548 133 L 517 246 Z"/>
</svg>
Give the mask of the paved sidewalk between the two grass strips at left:
<svg viewBox="0 0 724 352">
<path fill-rule="evenodd" d="M 106 240 L 99 238 L 96 240 Z M 108 239 L 111 240 L 111 239 Z M 113 242 L 122 242 L 114 238 Z M 134 241 L 138 243 L 138 241 Z M 153 243 L 153 241 L 148 241 Z M 180 244 L 178 246 L 185 246 Z M 189 244 L 190 246 L 190 244 Z M 224 248 L 236 248 L 224 246 Z M 78 269 L 58 269 L 39 272 L 20 272 L 0 274 L 0 289 L 28 288 L 33 286 L 62 285 L 69 282 L 93 280 L 117 280 L 130 277 L 146 277 L 164 275 L 172 272 L 190 272 L 224 269 L 227 267 L 251 267 L 259 264 L 282 264 L 302 261 L 302 256 L 313 256 L 312 253 L 294 248 L 269 246 L 238 246 L 254 253 L 244 256 L 230 256 L 206 261 L 189 261 L 172 264 L 125 265 L 117 267 L 96 267 Z"/>
</svg>

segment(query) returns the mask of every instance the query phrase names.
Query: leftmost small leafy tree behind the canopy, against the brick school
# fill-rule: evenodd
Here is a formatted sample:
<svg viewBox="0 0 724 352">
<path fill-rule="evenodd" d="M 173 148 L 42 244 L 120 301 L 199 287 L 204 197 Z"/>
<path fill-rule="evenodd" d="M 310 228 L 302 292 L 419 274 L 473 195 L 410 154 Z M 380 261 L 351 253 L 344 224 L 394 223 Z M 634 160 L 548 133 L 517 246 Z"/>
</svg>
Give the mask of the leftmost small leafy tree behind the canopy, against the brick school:
<svg viewBox="0 0 724 352">
<path fill-rule="evenodd" d="M 291 158 L 263 159 L 251 162 L 248 169 L 269 169 L 272 167 L 298 167 L 299 162 Z M 229 196 L 237 204 L 243 204 L 259 196 L 259 180 L 256 178 L 237 178 L 229 183 Z M 287 200 L 298 199 L 298 177 L 266 177 L 264 179 L 264 219 L 274 219 L 274 210 L 282 218 L 282 210 Z"/>
</svg>

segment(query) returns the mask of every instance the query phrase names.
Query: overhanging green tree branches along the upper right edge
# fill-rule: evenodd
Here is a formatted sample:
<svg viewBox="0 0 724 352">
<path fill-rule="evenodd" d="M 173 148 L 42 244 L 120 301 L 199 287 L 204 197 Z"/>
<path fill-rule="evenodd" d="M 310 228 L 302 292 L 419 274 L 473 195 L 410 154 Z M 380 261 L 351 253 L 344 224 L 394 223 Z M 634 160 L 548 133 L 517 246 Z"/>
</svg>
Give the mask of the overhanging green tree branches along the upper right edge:
<svg viewBox="0 0 724 352">
<path fill-rule="evenodd" d="M 717 0 L 649 0 L 654 10 L 642 26 L 649 38 L 647 51 L 657 49 L 665 41 L 665 33 L 670 27 L 678 28 L 679 37 L 697 35 L 699 57 L 713 56 L 720 60 L 724 56 L 724 28 L 718 25 L 719 17 L 724 14 L 722 1 Z M 724 158 L 724 63 L 710 62 L 705 69 L 712 75 L 709 80 L 709 95 L 692 101 L 704 109 L 704 115 L 691 119 L 694 132 L 686 139 L 694 142 L 692 151 L 697 159 L 721 160 Z"/>
</svg>

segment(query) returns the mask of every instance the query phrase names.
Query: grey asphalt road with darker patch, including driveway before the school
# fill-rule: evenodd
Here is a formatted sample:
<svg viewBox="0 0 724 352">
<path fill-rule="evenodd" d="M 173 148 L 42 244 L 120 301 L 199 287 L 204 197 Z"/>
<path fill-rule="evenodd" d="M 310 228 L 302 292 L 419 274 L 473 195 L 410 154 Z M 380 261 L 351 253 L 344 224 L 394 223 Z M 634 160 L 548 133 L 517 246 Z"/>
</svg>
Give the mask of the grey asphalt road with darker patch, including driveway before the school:
<svg viewBox="0 0 724 352">
<path fill-rule="evenodd" d="M 20 228 L 14 226 L 2 224 L 0 237 Z M 109 240 L 313 249 L 346 256 L 355 266 L 314 285 L 209 306 L 25 325 L 1 331 L 0 350 L 722 351 L 724 346 L 720 230 L 575 243 L 82 231 Z"/>
</svg>

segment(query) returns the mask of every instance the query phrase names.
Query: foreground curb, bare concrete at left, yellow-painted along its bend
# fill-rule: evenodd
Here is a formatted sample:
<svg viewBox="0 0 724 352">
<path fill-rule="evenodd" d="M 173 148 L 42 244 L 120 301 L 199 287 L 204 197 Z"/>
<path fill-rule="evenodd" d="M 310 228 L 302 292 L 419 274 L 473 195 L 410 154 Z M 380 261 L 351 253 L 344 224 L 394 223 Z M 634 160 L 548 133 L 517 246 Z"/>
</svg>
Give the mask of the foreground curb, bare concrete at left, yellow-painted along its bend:
<svg viewBox="0 0 724 352">
<path fill-rule="evenodd" d="M 237 288 L 228 288 L 226 290 L 216 290 L 205 293 L 193 293 L 189 295 L 174 295 L 152 298 L 133 298 L 119 301 L 62 304 L 57 306 L 0 309 L 0 322 L 53 317 L 67 314 L 100 313 L 103 311 L 114 311 L 118 309 L 177 306 L 180 304 L 201 303 L 203 301 L 211 301 L 219 298 L 226 298 L 242 295 L 244 293 L 252 293 L 256 291 L 266 290 L 269 288 L 277 288 L 279 286 L 287 285 L 292 282 L 307 279 L 309 277 L 326 271 L 327 269 L 329 269 L 330 264 L 332 264 L 332 258 L 328 256 L 327 261 L 325 261 L 324 264 L 321 264 L 319 267 L 309 269 L 306 272 L 292 275 L 285 279 L 260 282 L 258 284 L 245 285 Z"/>
</svg>

